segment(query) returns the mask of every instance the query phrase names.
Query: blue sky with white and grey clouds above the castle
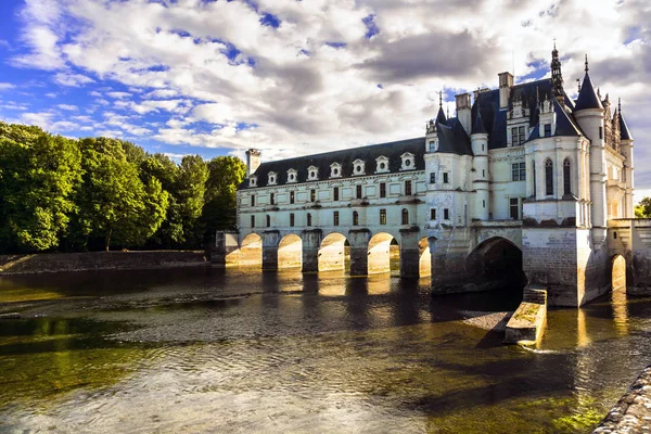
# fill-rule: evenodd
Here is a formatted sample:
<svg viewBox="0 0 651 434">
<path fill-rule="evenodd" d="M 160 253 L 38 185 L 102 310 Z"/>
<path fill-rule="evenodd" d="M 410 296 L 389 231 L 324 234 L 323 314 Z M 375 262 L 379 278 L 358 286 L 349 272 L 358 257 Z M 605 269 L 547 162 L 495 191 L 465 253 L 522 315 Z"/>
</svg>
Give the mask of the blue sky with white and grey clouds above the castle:
<svg viewBox="0 0 651 434">
<path fill-rule="evenodd" d="M 263 159 L 424 136 L 454 95 L 588 54 L 622 99 L 651 195 L 648 0 L 0 0 L 0 120 L 177 161 Z"/>
</svg>

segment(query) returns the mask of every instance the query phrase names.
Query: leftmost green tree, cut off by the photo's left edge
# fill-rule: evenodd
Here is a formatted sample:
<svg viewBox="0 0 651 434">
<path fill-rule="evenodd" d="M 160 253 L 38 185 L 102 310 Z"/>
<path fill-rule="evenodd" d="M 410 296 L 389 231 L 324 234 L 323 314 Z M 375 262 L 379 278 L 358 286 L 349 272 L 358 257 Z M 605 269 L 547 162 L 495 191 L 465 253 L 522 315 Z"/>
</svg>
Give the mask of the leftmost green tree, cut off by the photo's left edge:
<svg viewBox="0 0 651 434">
<path fill-rule="evenodd" d="M 0 245 L 5 251 L 55 248 L 68 229 L 79 187 L 75 141 L 38 127 L 0 123 Z"/>
</svg>

